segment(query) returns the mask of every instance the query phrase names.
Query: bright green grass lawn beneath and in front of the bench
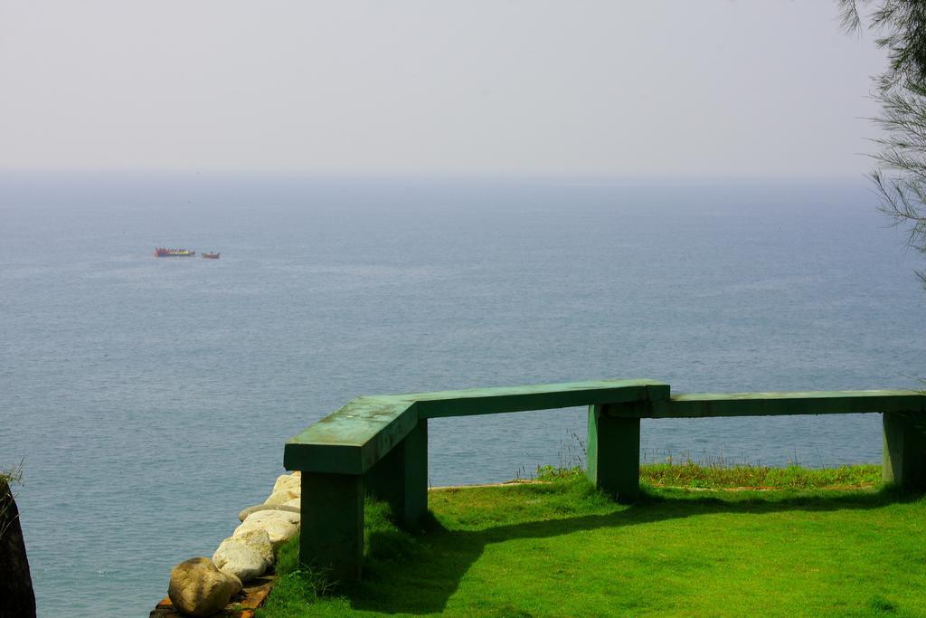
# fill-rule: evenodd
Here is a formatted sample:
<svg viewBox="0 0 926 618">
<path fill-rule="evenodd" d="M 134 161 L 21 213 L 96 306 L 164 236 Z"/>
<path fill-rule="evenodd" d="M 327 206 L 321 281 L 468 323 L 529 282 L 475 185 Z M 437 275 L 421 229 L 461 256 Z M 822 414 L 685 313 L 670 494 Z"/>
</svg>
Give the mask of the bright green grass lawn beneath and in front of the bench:
<svg viewBox="0 0 926 618">
<path fill-rule="evenodd" d="M 782 489 L 729 491 L 694 487 L 768 486 L 768 470 L 721 482 L 648 466 L 628 507 L 547 471 L 433 491 L 413 535 L 369 503 L 363 581 L 326 589 L 295 571 L 291 543 L 258 615 L 926 616 L 926 498 L 877 486 L 879 473 L 793 468 L 772 473 Z M 687 487 L 655 485 L 667 479 Z M 862 488 L 820 488 L 833 485 Z"/>
</svg>

